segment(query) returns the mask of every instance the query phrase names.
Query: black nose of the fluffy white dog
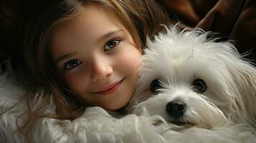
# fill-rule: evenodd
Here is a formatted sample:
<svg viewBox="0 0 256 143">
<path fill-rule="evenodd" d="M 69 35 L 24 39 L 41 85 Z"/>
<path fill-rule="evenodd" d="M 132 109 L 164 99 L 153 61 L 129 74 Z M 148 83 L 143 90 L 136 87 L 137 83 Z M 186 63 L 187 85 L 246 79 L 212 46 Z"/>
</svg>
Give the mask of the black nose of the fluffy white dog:
<svg viewBox="0 0 256 143">
<path fill-rule="evenodd" d="M 166 112 L 171 117 L 179 118 L 183 116 L 186 111 L 186 104 L 180 100 L 175 100 L 166 104 Z"/>
</svg>

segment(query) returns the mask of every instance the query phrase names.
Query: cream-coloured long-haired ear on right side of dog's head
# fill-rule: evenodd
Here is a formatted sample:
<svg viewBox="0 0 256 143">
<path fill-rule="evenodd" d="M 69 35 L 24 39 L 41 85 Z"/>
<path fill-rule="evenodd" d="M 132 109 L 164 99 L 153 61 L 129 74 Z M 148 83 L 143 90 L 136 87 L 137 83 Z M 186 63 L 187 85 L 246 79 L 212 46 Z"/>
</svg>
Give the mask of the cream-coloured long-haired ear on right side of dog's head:
<svg viewBox="0 0 256 143">
<path fill-rule="evenodd" d="M 256 129 L 256 68 L 240 57 L 234 57 L 225 64 L 232 77 L 229 84 L 237 91 L 233 95 L 240 110 L 239 119 L 246 119 Z"/>
</svg>

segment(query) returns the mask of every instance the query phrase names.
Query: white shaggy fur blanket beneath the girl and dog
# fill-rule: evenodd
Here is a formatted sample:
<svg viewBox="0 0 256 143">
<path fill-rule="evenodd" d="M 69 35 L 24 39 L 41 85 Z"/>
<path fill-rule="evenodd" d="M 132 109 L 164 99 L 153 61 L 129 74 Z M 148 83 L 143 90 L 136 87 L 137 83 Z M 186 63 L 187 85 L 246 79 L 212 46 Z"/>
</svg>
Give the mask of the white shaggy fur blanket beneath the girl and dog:
<svg viewBox="0 0 256 143">
<path fill-rule="evenodd" d="M 1 72 L 0 72 L 1 73 Z M 14 105 L 24 89 L 19 87 L 11 70 L 0 75 L 0 111 Z M 42 92 L 39 92 L 42 93 Z M 40 94 L 36 95 L 40 99 Z M 50 103 L 49 103 L 50 104 Z M 22 134 L 13 133 L 16 130 L 16 117 L 22 114 L 26 104 L 19 102 L 16 107 L 0 115 L 0 142 L 27 142 Z M 52 112 L 49 109 L 47 112 Z M 22 118 L 24 119 L 24 118 Z M 34 142 L 256 142 L 255 136 L 247 129 L 237 124 L 232 127 L 202 129 L 191 127 L 179 129 L 176 125 L 162 124 L 154 126 L 160 116 L 149 117 L 146 114 L 137 116 L 130 114 L 121 119 L 115 119 L 100 107 L 90 107 L 82 117 L 69 120 L 41 119 L 29 132 Z M 22 120 L 19 122 L 22 123 Z M 241 130 L 245 129 L 245 130 Z"/>
</svg>

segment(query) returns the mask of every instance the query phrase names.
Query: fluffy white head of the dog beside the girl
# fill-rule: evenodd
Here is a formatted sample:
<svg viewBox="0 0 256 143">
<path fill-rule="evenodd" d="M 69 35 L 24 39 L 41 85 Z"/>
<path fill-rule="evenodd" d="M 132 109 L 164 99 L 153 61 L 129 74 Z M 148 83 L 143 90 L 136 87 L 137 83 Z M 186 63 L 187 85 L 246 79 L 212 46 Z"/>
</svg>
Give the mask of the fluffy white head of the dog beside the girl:
<svg viewBox="0 0 256 143">
<path fill-rule="evenodd" d="M 175 27 L 148 40 L 131 104 L 178 125 L 256 124 L 256 69 L 229 42 Z"/>
</svg>

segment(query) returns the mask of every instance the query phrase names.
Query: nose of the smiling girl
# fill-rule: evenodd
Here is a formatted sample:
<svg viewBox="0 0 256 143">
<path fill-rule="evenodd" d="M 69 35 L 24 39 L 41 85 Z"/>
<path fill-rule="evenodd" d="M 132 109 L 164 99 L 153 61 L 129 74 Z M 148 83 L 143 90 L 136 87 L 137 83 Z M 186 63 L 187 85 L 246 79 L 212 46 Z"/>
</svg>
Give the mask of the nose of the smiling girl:
<svg viewBox="0 0 256 143">
<path fill-rule="evenodd" d="M 107 79 L 113 74 L 113 68 L 106 62 L 100 62 L 94 65 L 92 71 L 92 81 L 99 82 L 103 79 Z"/>
</svg>

